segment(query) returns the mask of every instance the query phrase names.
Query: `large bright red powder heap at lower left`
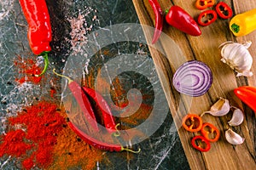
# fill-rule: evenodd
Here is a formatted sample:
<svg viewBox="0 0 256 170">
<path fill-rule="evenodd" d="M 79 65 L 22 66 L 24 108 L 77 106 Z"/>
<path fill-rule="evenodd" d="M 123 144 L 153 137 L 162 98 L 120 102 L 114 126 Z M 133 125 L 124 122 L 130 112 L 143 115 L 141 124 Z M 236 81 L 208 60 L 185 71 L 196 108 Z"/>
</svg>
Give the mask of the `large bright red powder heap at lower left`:
<svg viewBox="0 0 256 170">
<path fill-rule="evenodd" d="M 66 123 L 56 109 L 56 105 L 41 101 L 24 108 L 18 116 L 9 118 L 10 125 L 21 125 L 26 132 L 18 129 L 3 135 L 0 156 L 22 157 L 22 165 L 26 169 L 34 165 L 48 167 L 53 161 L 57 133 Z"/>
</svg>

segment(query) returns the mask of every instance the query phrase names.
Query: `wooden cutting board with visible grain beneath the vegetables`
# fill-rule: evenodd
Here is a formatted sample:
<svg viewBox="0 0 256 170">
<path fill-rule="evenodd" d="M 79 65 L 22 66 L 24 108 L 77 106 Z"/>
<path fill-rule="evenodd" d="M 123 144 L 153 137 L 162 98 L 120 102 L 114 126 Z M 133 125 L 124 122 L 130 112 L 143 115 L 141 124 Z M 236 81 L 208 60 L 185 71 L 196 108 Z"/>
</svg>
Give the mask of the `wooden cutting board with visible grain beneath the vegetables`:
<svg viewBox="0 0 256 170">
<path fill-rule="evenodd" d="M 234 14 L 240 14 L 247 10 L 256 8 L 256 1 L 251 0 L 233 0 L 224 1 L 233 8 Z M 172 5 L 178 5 L 184 8 L 191 16 L 197 17 L 201 11 L 194 6 L 195 0 L 159 0 L 163 11 Z M 217 1 L 218 3 L 218 1 Z M 148 0 L 133 0 L 137 16 L 142 25 L 154 26 L 154 12 L 150 7 Z M 172 76 L 177 69 L 177 60 L 173 58 L 173 51 L 169 50 L 170 44 L 160 39 L 158 46 L 163 48 L 165 54 L 160 54 L 154 46 L 148 47 L 150 54 L 154 59 L 154 64 L 158 65 L 162 87 L 166 93 L 166 99 L 172 112 L 172 117 L 176 123 L 179 137 L 183 144 L 183 150 L 189 161 L 191 169 L 256 169 L 255 163 L 255 114 L 246 105 L 243 105 L 239 99 L 233 94 L 233 89 L 242 85 L 250 85 L 256 87 L 256 31 L 245 37 L 234 37 L 229 30 L 230 20 L 216 20 L 212 25 L 201 27 L 202 34 L 200 37 L 191 37 L 172 26 L 164 25 L 163 32 L 171 37 L 177 43 L 185 58 L 197 59 L 206 63 L 212 70 L 213 83 L 207 94 L 200 97 L 190 98 L 183 94 L 177 93 L 172 87 Z M 151 42 L 152 34 L 144 31 L 148 43 Z M 220 50 L 218 46 L 222 42 L 246 42 L 252 41 L 253 44 L 249 48 L 253 56 L 253 77 L 236 77 L 234 71 L 228 65 L 224 65 L 220 61 Z M 164 74 L 160 74 L 160 72 Z M 166 81 L 169 80 L 169 81 Z M 224 137 L 224 131 L 229 128 L 228 121 L 231 113 L 223 117 L 213 117 L 210 115 L 203 116 L 204 122 L 211 122 L 221 132 L 221 137 L 216 143 L 212 143 L 211 150 L 202 153 L 195 150 L 190 145 L 190 139 L 197 133 L 189 133 L 181 127 L 181 119 L 188 112 L 201 114 L 203 111 L 209 111 L 218 97 L 229 99 L 231 105 L 240 107 L 245 112 L 245 121 L 239 127 L 232 127 L 236 133 L 241 134 L 245 138 L 245 142 L 241 145 L 229 144 Z M 256 102 L 256 101 L 255 101 Z"/>
</svg>

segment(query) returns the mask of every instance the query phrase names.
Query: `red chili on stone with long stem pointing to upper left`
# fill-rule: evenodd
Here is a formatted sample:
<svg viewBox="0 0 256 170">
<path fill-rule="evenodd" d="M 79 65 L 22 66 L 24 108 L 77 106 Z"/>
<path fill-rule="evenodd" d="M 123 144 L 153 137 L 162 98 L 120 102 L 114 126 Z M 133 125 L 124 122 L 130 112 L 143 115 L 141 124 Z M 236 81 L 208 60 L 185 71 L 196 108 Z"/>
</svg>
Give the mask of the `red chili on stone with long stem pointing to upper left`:
<svg viewBox="0 0 256 170">
<path fill-rule="evenodd" d="M 96 117 L 90 105 L 90 101 L 87 98 L 86 94 L 84 94 L 84 90 L 79 86 L 79 83 L 71 80 L 69 77 L 56 73 L 55 69 L 53 70 L 53 72 L 55 73 L 55 75 L 59 77 L 67 78 L 68 88 L 71 90 L 73 97 L 78 102 L 80 109 L 81 111 L 83 111 L 84 116 L 87 118 L 87 121 L 89 122 L 90 126 L 93 127 L 93 129 L 96 132 L 99 131 L 99 128 L 96 122 Z"/>
</svg>

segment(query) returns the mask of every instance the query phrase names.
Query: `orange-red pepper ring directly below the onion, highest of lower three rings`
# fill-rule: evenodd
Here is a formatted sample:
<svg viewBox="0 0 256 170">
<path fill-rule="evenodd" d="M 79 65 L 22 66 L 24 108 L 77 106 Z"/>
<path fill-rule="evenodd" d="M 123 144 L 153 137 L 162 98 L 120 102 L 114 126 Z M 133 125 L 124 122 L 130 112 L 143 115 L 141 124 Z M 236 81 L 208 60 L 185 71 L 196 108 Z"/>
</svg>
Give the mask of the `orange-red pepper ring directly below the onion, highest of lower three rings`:
<svg viewBox="0 0 256 170">
<path fill-rule="evenodd" d="M 202 127 L 201 116 L 188 114 L 183 117 L 183 127 L 189 132 L 198 132 Z"/>
</svg>

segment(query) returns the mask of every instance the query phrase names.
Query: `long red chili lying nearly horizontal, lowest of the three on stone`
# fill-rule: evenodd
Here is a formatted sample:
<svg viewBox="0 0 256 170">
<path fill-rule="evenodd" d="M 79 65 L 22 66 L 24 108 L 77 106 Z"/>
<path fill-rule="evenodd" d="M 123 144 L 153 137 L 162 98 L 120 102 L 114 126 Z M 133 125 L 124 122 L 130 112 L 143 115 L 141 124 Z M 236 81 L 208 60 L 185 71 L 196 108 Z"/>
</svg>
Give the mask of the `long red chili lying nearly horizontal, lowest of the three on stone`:
<svg viewBox="0 0 256 170">
<path fill-rule="evenodd" d="M 99 150 L 106 150 L 106 151 L 131 151 L 132 153 L 138 153 L 141 149 L 134 151 L 127 148 L 124 148 L 123 146 L 119 144 L 108 144 L 99 140 L 96 140 L 92 137 L 90 137 L 88 134 L 82 132 L 78 127 L 76 127 L 72 122 L 67 122 L 69 127 L 73 130 L 74 133 L 77 133 L 81 139 L 83 139 L 87 144 L 92 145 L 93 147 L 99 149 Z"/>
</svg>

